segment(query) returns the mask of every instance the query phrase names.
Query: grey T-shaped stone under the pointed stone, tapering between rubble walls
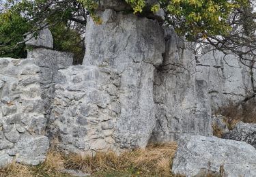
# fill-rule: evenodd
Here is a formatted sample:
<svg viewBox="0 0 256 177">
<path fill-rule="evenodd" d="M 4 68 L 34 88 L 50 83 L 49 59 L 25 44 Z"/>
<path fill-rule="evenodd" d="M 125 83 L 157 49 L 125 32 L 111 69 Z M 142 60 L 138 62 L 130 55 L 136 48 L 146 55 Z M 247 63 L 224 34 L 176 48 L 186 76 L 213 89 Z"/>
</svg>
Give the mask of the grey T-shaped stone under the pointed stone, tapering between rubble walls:
<svg viewBox="0 0 256 177">
<path fill-rule="evenodd" d="M 72 65 L 73 54 L 46 48 L 34 48 L 28 51 L 27 58 L 33 60 L 35 65 L 39 66 L 44 116 L 50 121 L 53 99 L 55 97 L 55 82 L 59 80 L 58 71 Z"/>
</svg>

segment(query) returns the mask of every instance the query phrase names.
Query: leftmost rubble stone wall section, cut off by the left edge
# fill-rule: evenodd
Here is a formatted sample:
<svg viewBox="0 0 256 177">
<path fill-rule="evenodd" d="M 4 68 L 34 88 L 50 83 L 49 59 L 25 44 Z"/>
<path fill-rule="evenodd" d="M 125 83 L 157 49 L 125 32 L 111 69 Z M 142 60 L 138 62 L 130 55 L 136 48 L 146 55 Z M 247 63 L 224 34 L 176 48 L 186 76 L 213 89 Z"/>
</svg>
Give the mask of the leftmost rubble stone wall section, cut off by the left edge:
<svg viewBox="0 0 256 177">
<path fill-rule="evenodd" d="M 49 147 L 40 67 L 30 59 L 0 59 L 0 166 L 13 158 L 38 165 Z"/>
</svg>

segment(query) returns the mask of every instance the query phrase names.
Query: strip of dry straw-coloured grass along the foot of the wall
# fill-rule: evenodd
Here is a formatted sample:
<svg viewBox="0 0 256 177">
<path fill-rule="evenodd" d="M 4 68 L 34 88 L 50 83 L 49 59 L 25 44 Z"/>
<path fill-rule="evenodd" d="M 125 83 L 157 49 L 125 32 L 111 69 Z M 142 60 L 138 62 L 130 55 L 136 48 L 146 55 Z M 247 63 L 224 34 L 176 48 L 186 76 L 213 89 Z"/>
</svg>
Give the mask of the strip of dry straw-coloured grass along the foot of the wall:
<svg viewBox="0 0 256 177">
<path fill-rule="evenodd" d="M 11 163 L 0 169 L 0 176 L 68 176 L 63 169 L 76 169 L 92 176 L 173 176 L 171 165 L 177 149 L 175 142 L 152 144 L 146 149 L 123 152 L 98 152 L 94 157 L 63 155 L 50 150 L 46 161 L 36 167 Z"/>
</svg>

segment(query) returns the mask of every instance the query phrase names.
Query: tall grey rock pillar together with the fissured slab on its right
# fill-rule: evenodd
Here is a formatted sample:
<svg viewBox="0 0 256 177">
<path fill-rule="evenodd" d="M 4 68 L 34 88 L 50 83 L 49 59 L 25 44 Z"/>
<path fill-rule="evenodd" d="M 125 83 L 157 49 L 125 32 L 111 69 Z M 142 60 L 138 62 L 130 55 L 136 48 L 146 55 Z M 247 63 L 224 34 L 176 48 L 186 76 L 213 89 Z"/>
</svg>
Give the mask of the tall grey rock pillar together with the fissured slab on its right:
<svg viewBox="0 0 256 177">
<path fill-rule="evenodd" d="M 195 79 L 195 58 L 174 31 L 114 10 L 100 16 L 103 25 L 87 23 L 83 65 L 104 66 L 120 76 L 114 132 L 119 146 L 145 147 L 150 137 L 167 142 L 188 132 L 211 135 L 206 82 Z"/>
</svg>

